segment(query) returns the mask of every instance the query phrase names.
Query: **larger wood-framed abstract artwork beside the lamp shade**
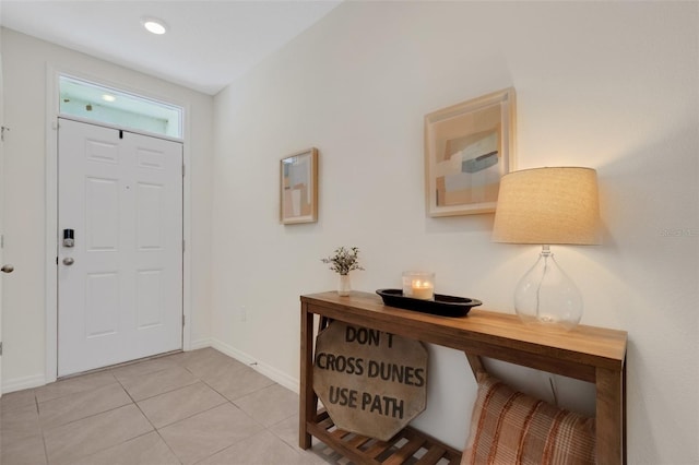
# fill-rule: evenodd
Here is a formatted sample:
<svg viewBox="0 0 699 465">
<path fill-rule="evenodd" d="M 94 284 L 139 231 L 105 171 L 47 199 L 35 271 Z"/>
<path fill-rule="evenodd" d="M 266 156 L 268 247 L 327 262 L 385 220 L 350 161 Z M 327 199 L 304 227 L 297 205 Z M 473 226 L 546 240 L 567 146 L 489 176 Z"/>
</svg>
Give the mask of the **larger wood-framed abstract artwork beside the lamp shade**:
<svg viewBox="0 0 699 465">
<path fill-rule="evenodd" d="M 425 116 L 429 216 L 495 212 L 500 178 L 514 169 L 514 88 Z"/>
</svg>

